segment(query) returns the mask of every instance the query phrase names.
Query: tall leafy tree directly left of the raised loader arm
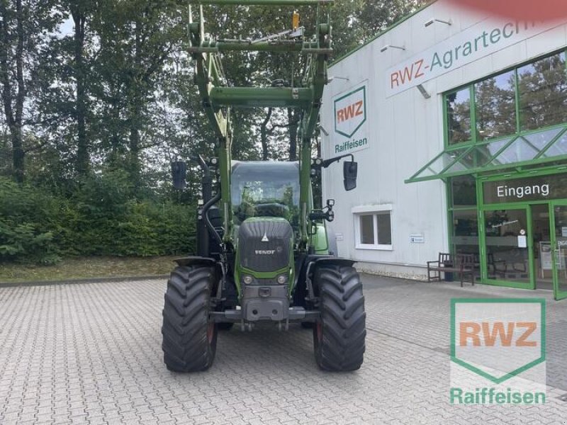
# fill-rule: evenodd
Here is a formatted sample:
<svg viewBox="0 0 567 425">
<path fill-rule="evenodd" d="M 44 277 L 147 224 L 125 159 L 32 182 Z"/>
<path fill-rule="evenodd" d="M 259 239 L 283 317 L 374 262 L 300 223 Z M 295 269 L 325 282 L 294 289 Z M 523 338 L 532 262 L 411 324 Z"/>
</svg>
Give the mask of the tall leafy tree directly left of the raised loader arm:
<svg viewBox="0 0 567 425">
<path fill-rule="evenodd" d="M 99 125 L 109 125 L 111 162 L 125 162 L 140 186 L 143 135 L 152 123 L 149 106 L 163 78 L 164 65 L 179 49 L 183 23 L 176 2 L 104 0 L 94 27 L 100 38 L 96 89 Z M 150 143 L 151 145 L 151 143 Z M 123 161 L 124 160 L 124 161 Z"/>
</svg>

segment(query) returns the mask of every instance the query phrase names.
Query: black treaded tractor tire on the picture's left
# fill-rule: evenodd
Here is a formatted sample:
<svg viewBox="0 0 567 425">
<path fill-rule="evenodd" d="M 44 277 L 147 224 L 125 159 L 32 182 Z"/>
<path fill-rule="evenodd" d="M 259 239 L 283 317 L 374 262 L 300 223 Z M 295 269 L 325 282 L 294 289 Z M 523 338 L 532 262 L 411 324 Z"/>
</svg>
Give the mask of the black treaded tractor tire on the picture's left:
<svg viewBox="0 0 567 425">
<path fill-rule="evenodd" d="M 210 368 L 217 347 L 217 326 L 209 322 L 212 267 L 176 267 L 167 281 L 162 326 L 164 363 L 175 372 Z"/>
</svg>

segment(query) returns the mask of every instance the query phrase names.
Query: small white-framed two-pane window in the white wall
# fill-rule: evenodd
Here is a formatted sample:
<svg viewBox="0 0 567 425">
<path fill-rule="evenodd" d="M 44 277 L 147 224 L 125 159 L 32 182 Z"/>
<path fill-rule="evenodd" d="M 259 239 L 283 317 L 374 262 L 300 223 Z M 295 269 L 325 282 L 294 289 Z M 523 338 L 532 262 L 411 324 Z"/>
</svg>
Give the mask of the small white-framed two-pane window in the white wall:
<svg viewBox="0 0 567 425">
<path fill-rule="evenodd" d="M 353 208 L 357 249 L 392 249 L 391 205 Z"/>
</svg>

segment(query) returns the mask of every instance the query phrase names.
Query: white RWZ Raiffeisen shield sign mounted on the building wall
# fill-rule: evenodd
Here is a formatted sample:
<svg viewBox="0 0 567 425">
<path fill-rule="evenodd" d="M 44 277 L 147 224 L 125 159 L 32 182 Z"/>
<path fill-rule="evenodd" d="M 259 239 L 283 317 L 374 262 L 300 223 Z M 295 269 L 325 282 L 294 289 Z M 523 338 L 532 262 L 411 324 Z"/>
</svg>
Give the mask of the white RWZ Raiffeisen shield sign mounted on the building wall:
<svg viewBox="0 0 567 425">
<path fill-rule="evenodd" d="M 334 131 L 330 135 L 330 157 L 350 154 L 369 147 L 368 84 L 337 94 L 333 98 Z"/>
</svg>

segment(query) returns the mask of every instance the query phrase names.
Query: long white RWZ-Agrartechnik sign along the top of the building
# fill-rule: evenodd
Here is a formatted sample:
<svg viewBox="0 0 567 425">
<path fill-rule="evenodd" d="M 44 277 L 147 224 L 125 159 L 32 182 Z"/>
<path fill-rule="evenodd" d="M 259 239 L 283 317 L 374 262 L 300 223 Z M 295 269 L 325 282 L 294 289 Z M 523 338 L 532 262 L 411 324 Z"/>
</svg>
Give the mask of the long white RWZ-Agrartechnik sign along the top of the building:
<svg viewBox="0 0 567 425">
<path fill-rule="evenodd" d="M 393 96 L 560 25 L 554 22 L 485 19 L 386 71 L 386 97 Z"/>
</svg>

